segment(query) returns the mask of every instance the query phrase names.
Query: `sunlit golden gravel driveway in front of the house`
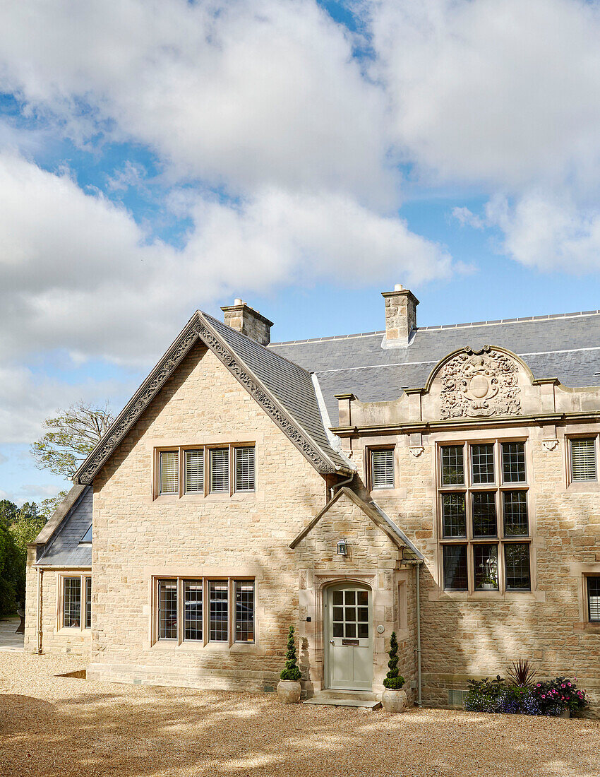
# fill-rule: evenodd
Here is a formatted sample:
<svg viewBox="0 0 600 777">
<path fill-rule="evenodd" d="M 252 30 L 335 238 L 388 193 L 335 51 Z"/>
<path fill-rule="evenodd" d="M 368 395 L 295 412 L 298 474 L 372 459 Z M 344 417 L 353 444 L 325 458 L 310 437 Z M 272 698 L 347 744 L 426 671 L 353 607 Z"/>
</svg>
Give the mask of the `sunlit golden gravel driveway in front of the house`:
<svg viewBox="0 0 600 777">
<path fill-rule="evenodd" d="M 113 685 L 85 661 L 0 653 L 2 777 L 598 777 L 600 722 L 279 706 L 273 695 Z"/>
</svg>

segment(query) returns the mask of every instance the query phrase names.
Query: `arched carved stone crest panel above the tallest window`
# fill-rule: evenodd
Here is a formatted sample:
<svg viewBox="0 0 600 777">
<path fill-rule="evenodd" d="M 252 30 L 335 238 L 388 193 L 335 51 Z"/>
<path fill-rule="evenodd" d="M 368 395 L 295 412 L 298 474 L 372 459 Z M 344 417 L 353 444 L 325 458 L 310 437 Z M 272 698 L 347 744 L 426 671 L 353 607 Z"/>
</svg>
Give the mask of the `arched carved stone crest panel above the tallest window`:
<svg viewBox="0 0 600 777">
<path fill-rule="evenodd" d="M 441 377 L 442 419 L 521 414 L 518 364 L 499 350 L 466 347 L 444 365 Z"/>
</svg>

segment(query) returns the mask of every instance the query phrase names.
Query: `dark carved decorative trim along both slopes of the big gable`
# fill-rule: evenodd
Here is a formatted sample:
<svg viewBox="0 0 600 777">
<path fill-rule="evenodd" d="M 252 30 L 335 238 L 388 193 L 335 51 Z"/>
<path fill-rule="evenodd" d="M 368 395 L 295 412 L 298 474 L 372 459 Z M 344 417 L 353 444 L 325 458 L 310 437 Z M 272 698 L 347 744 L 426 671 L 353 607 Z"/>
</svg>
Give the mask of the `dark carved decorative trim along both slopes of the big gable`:
<svg viewBox="0 0 600 777">
<path fill-rule="evenodd" d="M 165 355 L 164 359 L 154 368 L 154 371 L 149 375 L 146 382 L 141 386 L 137 394 L 134 396 L 129 404 L 123 409 L 120 416 L 116 419 L 113 426 L 109 429 L 108 437 L 102 440 L 102 444 L 99 448 L 93 451 L 92 458 L 85 462 L 85 469 L 79 474 L 78 482 L 82 485 L 92 483 L 96 472 L 102 467 L 109 455 L 113 453 L 116 446 L 123 440 L 123 437 L 127 434 L 130 428 L 133 426 L 140 413 L 146 409 L 149 402 L 154 399 L 154 396 L 161 389 L 161 386 L 172 375 L 175 368 L 181 363 L 182 359 L 186 356 L 193 343 L 196 342 L 198 337 L 203 340 L 213 351 L 220 361 L 223 362 L 225 367 L 238 378 L 238 381 L 247 389 L 247 391 L 254 397 L 256 402 L 261 405 L 266 413 L 272 417 L 272 420 L 279 426 L 279 428 L 286 434 L 287 437 L 300 449 L 300 452 L 310 461 L 310 463 L 317 469 L 317 472 L 323 474 L 330 474 L 335 472 L 335 467 L 328 462 L 324 456 L 321 456 L 310 441 L 307 440 L 303 434 L 297 429 L 293 421 L 283 412 L 283 410 L 276 404 L 272 397 L 262 389 L 258 382 L 256 382 L 250 375 L 241 367 L 241 364 L 234 358 L 233 354 L 224 347 L 223 343 L 208 329 L 208 327 L 200 320 L 196 319 L 190 322 L 189 326 L 186 326 L 175 341 L 173 347 Z"/>
</svg>

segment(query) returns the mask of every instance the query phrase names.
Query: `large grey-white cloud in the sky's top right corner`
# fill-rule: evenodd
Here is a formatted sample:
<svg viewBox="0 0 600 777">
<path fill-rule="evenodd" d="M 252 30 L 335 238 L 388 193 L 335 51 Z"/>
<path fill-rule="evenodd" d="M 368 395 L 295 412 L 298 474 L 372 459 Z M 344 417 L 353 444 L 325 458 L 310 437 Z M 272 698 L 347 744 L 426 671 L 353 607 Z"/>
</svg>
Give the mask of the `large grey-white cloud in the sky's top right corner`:
<svg viewBox="0 0 600 777">
<path fill-rule="evenodd" d="M 600 172 L 600 15 L 579 0 L 372 5 L 404 155 L 433 179 L 520 189 Z"/>
</svg>

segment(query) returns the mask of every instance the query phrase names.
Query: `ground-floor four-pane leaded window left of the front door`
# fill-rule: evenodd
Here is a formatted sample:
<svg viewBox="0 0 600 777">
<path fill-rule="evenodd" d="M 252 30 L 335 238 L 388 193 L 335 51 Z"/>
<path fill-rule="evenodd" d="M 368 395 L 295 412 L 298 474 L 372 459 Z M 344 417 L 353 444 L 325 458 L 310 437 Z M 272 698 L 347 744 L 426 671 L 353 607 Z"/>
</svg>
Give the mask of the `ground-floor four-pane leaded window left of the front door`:
<svg viewBox="0 0 600 777">
<path fill-rule="evenodd" d="M 157 641 L 255 642 L 255 580 L 251 578 L 156 578 L 154 602 Z"/>
</svg>

